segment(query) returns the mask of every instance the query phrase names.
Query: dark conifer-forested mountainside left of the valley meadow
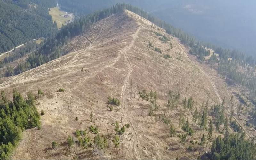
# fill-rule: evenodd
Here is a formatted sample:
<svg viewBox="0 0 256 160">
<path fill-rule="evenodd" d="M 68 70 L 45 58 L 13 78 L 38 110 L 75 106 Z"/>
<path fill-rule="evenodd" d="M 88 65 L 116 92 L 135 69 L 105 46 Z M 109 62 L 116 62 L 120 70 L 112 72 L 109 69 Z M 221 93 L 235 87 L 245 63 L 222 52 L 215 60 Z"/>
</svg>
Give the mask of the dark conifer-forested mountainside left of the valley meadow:
<svg viewBox="0 0 256 160">
<path fill-rule="evenodd" d="M 55 0 L 0 0 L 0 53 L 57 31 L 48 8 Z"/>
</svg>

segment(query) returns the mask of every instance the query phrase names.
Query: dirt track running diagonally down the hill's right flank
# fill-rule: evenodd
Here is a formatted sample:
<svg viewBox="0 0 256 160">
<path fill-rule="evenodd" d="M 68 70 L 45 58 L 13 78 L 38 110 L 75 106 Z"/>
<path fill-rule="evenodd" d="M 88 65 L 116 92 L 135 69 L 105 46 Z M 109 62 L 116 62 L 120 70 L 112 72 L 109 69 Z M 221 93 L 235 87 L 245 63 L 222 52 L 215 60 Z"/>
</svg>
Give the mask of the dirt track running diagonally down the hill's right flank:
<svg viewBox="0 0 256 160">
<path fill-rule="evenodd" d="M 185 50 L 184 50 L 183 47 L 180 45 L 180 43 L 178 43 L 178 44 L 179 44 L 180 48 L 182 49 L 182 51 L 183 51 L 183 52 L 186 54 L 186 56 L 188 57 L 188 54 L 185 52 Z M 190 60 L 189 57 L 188 57 L 188 59 Z M 219 95 L 219 93 L 218 93 L 218 91 L 217 91 L 217 88 L 215 87 L 214 83 L 212 82 L 211 77 L 208 76 L 208 74 L 207 74 L 206 72 L 204 72 L 201 68 L 199 68 L 192 60 L 190 60 L 190 62 L 191 62 L 195 67 L 197 67 L 201 72 L 204 73 L 204 75 L 207 77 L 207 79 L 211 82 L 212 87 L 214 88 L 214 92 L 215 92 L 216 95 L 218 96 L 218 98 L 219 98 L 219 100 L 220 100 L 220 103 L 222 103 L 222 99 L 220 98 L 220 95 Z M 226 107 L 226 111 L 228 112 L 228 114 L 230 114 L 230 111 L 227 109 L 227 107 Z M 233 116 L 233 118 L 235 119 L 236 123 L 238 123 L 238 125 L 242 128 L 242 130 L 245 132 L 245 134 L 246 134 L 248 137 L 250 137 L 250 138 L 252 139 L 252 137 L 251 137 L 251 136 L 246 132 L 246 130 L 242 127 L 241 122 L 238 121 L 235 116 Z"/>
</svg>

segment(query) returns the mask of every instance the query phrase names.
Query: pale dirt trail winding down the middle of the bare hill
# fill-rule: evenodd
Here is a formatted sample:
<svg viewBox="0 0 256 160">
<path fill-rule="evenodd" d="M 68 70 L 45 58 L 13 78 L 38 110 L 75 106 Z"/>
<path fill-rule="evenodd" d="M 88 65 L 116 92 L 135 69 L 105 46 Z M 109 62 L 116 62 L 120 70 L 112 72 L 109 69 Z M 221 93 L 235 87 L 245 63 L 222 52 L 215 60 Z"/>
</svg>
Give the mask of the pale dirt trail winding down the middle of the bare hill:
<svg viewBox="0 0 256 160">
<path fill-rule="evenodd" d="M 126 119 L 126 120 L 129 122 L 129 124 L 132 126 L 132 130 L 133 130 L 133 132 L 135 133 L 135 144 L 136 144 L 136 146 L 137 146 L 137 145 L 140 145 L 140 143 L 139 143 L 139 139 L 138 139 L 138 135 L 137 135 L 137 132 L 136 132 L 136 130 L 135 130 L 135 127 L 134 127 L 134 125 L 132 124 L 132 122 L 130 121 L 130 118 L 128 117 L 128 114 L 127 114 L 127 109 L 126 109 L 126 107 L 125 107 L 124 93 L 125 93 L 125 89 L 126 89 L 126 87 L 127 87 L 127 84 L 128 84 L 128 82 L 129 82 L 130 75 L 131 75 L 131 70 L 132 70 L 132 66 L 131 66 L 131 63 L 130 63 L 130 60 L 129 60 L 129 57 L 128 57 L 126 51 L 127 51 L 128 49 L 130 49 L 130 48 L 134 45 L 135 40 L 136 40 L 136 38 L 138 37 L 139 31 L 140 31 L 140 25 L 139 25 L 139 28 L 137 29 L 136 33 L 133 35 L 132 44 L 131 44 L 130 46 L 124 48 L 124 50 L 123 50 L 123 52 L 122 52 L 122 53 L 124 53 L 125 60 L 126 60 L 128 66 L 129 66 L 129 71 L 128 71 L 127 76 L 126 76 L 126 78 L 125 78 L 124 85 L 122 86 L 122 92 L 121 92 L 122 110 L 123 110 L 125 119 Z M 136 148 L 137 148 L 137 147 L 136 147 Z M 138 154 L 138 156 L 139 156 L 140 159 L 141 159 L 141 156 L 140 156 L 140 155 L 141 155 L 141 154 L 140 154 L 140 148 L 138 148 L 138 149 L 136 149 L 136 148 L 134 149 L 134 150 L 135 150 L 135 153 Z M 137 150 L 138 150 L 139 152 L 138 152 Z"/>
</svg>

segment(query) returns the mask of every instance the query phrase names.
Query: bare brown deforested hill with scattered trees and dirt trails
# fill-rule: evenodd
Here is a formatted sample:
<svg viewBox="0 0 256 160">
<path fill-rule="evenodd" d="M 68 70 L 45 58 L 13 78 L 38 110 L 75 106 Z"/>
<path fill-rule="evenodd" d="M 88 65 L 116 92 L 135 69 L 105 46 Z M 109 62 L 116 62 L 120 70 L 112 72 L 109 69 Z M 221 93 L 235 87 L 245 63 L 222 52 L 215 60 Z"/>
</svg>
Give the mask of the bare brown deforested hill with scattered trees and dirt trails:
<svg viewBox="0 0 256 160">
<path fill-rule="evenodd" d="M 154 32 L 160 32 L 170 41 L 164 43 Z M 77 155 L 79 159 L 100 159 L 100 156 L 105 159 L 176 159 L 198 156 L 199 145 L 194 151 L 187 151 L 177 137 L 170 137 L 169 128 L 159 119 L 161 116 L 169 118 L 177 134 L 185 133 L 178 127 L 182 99 L 192 96 L 198 103 L 197 108 L 206 100 L 209 106 L 220 103 L 214 84 L 190 61 L 186 54 L 188 49 L 177 38 L 125 10 L 95 23 L 65 47 L 70 50 L 67 55 L 20 75 L 3 78 L 0 84 L 0 89 L 8 95 L 14 88 L 24 95 L 28 91 L 36 94 L 38 89 L 45 93 L 37 97 L 38 110 L 45 112 L 41 117 L 42 129 L 25 131 L 12 158 L 71 159 Z M 164 58 L 166 54 L 170 58 Z M 65 91 L 57 92 L 59 88 Z M 144 89 L 148 93 L 157 92 L 159 107 L 154 111 L 155 116 L 148 115 L 150 102 L 139 98 L 138 92 Z M 170 114 L 166 108 L 169 91 L 180 92 L 179 106 Z M 119 99 L 121 105 L 109 111 L 107 97 Z M 186 115 L 192 124 L 192 115 Z M 115 137 L 112 124 L 116 121 L 120 127 L 130 125 L 120 136 L 118 148 L 112 142 Z M 98 126 L 98 134 L 108 138 L 104 154 L 77 145 L 68 149 L 67 138 L 69 135 L 75 138 L 77 129 L 86 130 L 94 144 L 95 134 L 89 132 L 91 125 Z M 200 129 L 197 125 L 193 129 L 196 133 L 188 136 L 185 146 L 190 140 L 199 141 Z M 52 149 L 53 141 L 59 144 L 58 149 Z"/>
</svg>

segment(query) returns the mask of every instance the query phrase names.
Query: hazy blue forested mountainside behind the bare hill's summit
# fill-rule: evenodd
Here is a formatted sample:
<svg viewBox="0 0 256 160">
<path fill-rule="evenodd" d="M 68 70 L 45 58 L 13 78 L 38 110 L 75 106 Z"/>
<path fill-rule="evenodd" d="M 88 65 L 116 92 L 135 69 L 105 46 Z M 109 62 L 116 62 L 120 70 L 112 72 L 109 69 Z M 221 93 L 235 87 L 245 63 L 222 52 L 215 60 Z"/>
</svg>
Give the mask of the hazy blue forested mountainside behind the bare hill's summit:
<svg viewBox="0 0 256 160">
<path fill-rule="evenodd" d="M 197 39 L 255 54 L 253 0 L 59 0 L 61 8 L 85 15 L 119 2 L 141 7 Z"/>
</svg>

